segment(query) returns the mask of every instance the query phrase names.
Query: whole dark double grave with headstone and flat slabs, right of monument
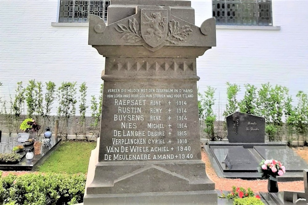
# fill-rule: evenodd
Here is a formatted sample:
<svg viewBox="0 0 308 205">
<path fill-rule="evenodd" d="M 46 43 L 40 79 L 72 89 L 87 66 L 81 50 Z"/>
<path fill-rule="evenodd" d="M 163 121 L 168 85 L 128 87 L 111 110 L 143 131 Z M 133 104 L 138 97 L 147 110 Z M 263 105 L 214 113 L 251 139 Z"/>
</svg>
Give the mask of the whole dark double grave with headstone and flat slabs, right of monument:
<svg viewBox="0 0 308 205">
<path fill-rule="evenodd" d="M 227 116 L 228 141 L 209 141 L 205 146 L 218 176 L 261 178 L 257 167 L 264 159 L 276 159 L 286 167 L 278 181 L 303 180 L 307 163 L 284 142 L 265 141 L 265 119 L 242 112 Z"/>
</svg>

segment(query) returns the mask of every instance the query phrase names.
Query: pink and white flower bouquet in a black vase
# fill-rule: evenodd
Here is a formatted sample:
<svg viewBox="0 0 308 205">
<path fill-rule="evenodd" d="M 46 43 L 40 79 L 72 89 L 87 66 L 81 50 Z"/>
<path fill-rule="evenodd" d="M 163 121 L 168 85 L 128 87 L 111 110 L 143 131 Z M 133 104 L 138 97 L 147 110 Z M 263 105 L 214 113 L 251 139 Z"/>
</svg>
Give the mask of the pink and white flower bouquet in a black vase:
<svg viewBox="0 0 308 205">
<path fill-rule="evenodd" d="M 267 190 L 272 193 L 278 192 L 278 176 L 286 173 L 285 166 L 277 160 L 262 160 L 258 167 L 262 178 L 268 179 Z"/>
</svg>

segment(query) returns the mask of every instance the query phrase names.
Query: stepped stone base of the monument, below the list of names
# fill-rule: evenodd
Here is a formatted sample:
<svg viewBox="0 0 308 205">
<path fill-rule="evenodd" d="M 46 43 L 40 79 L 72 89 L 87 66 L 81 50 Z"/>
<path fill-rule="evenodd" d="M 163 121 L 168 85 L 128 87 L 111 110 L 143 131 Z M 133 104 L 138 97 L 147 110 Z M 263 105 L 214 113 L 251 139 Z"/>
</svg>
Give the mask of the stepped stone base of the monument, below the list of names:
<svg viewBox="0 0 308 205">
<path fill-rule="evenodd" d="M 217 204 L 202 160 L 99 162 L 91 152 L 84 205 Z"/>
</svg>

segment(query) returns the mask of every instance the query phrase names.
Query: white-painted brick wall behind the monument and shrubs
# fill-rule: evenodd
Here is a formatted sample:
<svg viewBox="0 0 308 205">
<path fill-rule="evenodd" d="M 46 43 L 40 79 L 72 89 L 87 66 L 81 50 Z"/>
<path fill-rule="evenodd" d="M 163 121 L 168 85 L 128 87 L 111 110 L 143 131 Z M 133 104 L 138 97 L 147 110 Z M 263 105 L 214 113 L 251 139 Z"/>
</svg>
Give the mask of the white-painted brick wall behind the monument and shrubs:
<svg viewBox="0 0 308 205">
<path fill-rule="evenodd" d="M 305 0 L 272 1 L 274 26 L 281 30 L 217 29 L 217 47 L 197 59 L 201 93 L 207 85 L 215 87 L 222 105 L 226 81 L 257 86 L 269 81 L 287 86 L 293 96 L 298 90 L 308 93 Z M 51 26 L 57 21 L 57 7 L 58 0 L 1 1 L 0 95 L 6 99 L 14 95 L 18 81 L 30 79 L 58 86 L 62 81 L 86 81 L 89 103 L 91 95 L 97 96 L 104 58 L 87 45 L 88 27 Z M 211 18 L 210 0 L 192 0 L 192 7 L 197 26 Z"/>
</svg>

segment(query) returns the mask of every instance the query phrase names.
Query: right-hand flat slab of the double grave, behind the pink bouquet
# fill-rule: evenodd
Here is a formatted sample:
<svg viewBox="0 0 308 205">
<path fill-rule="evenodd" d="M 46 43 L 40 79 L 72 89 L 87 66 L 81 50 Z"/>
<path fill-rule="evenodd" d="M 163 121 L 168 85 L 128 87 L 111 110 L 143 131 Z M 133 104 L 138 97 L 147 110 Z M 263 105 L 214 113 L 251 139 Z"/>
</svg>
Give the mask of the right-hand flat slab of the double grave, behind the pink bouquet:
<svg viewBox="0 0 308 205">
<path fill-rule="evenodd" d="M 286 167 L 286 172 L 302 172 L 307 169 L 307 163 L 296 152 L 287 146 L 284 147 L 254 147 L 265 160 L 278 160 Z"/>
</svg>

